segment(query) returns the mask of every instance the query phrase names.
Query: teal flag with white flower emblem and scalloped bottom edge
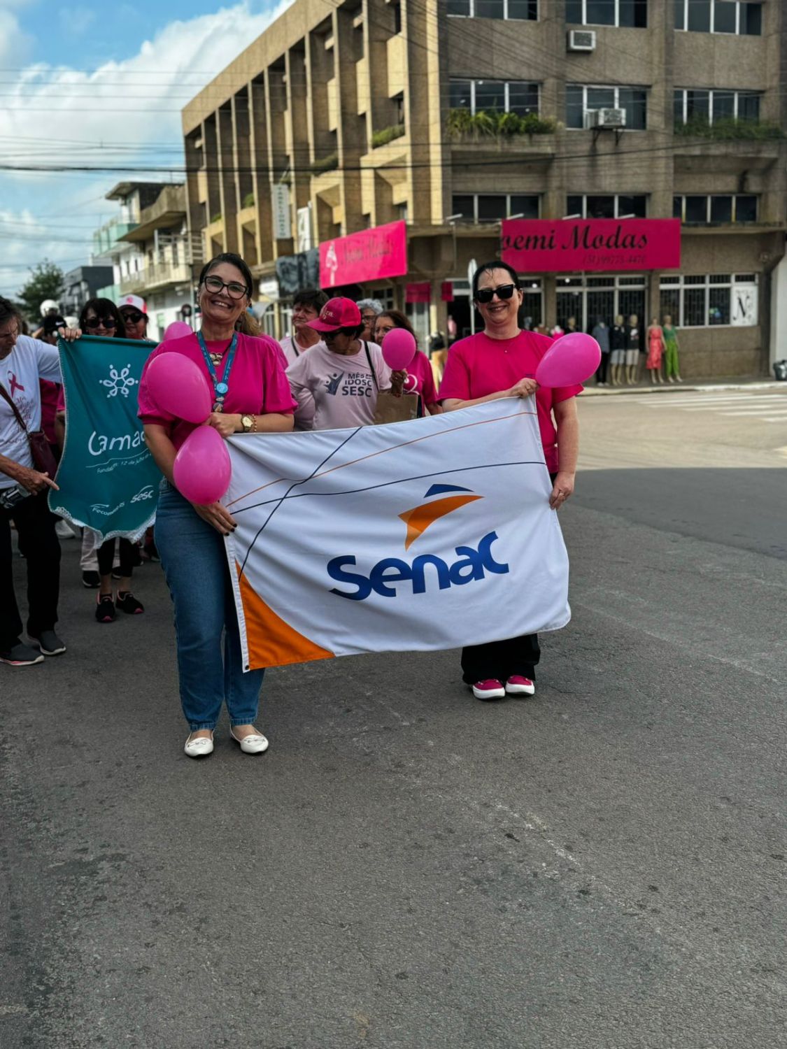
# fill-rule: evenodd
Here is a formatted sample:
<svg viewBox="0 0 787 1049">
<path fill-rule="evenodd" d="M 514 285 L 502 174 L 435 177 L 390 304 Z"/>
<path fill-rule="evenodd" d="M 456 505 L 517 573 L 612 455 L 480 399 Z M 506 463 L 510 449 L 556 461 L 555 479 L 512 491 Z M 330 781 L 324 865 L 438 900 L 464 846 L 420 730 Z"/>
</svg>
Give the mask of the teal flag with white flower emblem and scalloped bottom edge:
<svg viewBox="0 0 787 1049">
<path fill-rule="evenodd" d="M 83 336 L 58 348 L 66 440 L 49 508 L 102 541 L 137 539 L 155 517 L 162 479 L 136 418 L 140 377 L 154 344 Z"/>
</svg>

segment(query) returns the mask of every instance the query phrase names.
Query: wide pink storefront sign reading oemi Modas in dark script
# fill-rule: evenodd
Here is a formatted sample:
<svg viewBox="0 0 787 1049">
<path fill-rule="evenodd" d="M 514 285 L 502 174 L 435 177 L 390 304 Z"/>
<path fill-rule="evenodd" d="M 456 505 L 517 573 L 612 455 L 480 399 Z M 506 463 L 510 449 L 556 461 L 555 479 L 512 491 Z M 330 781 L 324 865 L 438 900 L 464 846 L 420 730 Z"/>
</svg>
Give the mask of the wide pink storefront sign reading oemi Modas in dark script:
<svg viewBox="0 0 787 1049">
<path fill-rule="evenodd" d="M 517 273 L 677 270 L 680 219 L 509 218 L 501 247 Z"/>
</svg>

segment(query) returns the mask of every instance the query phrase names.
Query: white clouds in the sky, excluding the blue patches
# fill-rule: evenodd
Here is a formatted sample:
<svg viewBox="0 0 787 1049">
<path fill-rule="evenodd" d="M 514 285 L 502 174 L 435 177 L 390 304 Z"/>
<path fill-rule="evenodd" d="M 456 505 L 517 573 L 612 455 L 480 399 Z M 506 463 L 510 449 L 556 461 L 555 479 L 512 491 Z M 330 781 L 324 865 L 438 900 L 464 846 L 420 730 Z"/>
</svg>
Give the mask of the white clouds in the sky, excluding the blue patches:
<svg viewBox="0 0 787 1049">
<path fill-rule="evenodd" d="M 19 3 L 24 0 L 19 0 Z M 30 164 L 129 165 L 149 163 L 179 169 L 183 166 L 180 110 L 213 77 L 256 39 L 290 4 L 263 14 L 253 14 L 249 0 L 211 15 L 171 22 L 121 62 L 108 62 L 93 72 L 67 65 L 38 63 L 27 66 L 12 97 L 0 109 L 0 160 L 27 167 Z M 28 45 L 10 10 L 9 0 L 0 0 L 0 65 L 4 51 L 13 51 L 6 66 L 19 67 L 20 49 Z M 71 10 L 79 8 L 71 8 Z M 9 43 L 6 37 L 9 37 Z M 9 214 L 0 213 L 0 294 L 9 291 L 8 265 L 44 256 L 77 265 L 75 258 L 88 261 L 83 243 L 63 240 L 65 227 L 52 219 L 35 216 L 62 214 L 64 223 L 84 223 L 75 200 L 87 200 L 93 215 L 103 211 L 108 218 L 111 204 L 95 199 L 123 178 L 145 178 L 144 172 L 106 172 L 41 175 L 0 171 L 0 199 L 31 230 L 14 237 L 16 227 Z M 167 180 L 166 174 L 147 177 Z M 177 177 L 177 176 L 175 176 Z M 94 191 L 94 192 L 93 192 Z M 5 224 L 3 224 L 5 217 Z M 97 221 L 97 226 L 100 222 Z M 39 240 L 39 232 L 41 240 Z M 36 234 L 34 237 L 33 234 Z M 47 237 L 50 239 L 47 240 Z M 67 237 L 67 235 L 66 235 Z M 85 240 L 87 232 L 80 233 Z M 22 283 L 25 274 L 20 274 Z"/>
</svg>

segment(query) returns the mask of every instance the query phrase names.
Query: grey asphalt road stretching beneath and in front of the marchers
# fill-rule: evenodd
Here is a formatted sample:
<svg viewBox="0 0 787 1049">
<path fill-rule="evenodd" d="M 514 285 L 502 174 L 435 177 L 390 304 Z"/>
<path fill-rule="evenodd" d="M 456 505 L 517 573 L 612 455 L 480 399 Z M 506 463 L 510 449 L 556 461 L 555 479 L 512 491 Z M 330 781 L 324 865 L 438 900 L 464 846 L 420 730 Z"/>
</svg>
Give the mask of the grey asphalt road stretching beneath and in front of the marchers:
<svg viewBox="0 0 787 1049">
<path fill-rule="evenodd" d="M 0 667 L 2 1049 L 787 1045 L 787 428 L 651 400 L 581 406 L 533 700 L 314 663 L 192 762 L 159 570 L 99 626 L 64 543 L 68 654 Z"/>
</svg>

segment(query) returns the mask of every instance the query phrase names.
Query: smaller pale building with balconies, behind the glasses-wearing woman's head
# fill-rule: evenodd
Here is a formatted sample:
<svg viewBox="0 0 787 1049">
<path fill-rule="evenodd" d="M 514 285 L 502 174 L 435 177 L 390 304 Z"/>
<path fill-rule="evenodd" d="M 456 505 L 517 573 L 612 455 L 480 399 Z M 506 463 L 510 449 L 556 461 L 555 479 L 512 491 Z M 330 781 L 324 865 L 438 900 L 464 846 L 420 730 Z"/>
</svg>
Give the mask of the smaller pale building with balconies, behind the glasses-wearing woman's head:
<svg viewBox="0 0 787 1049">
<path fill-rule="evenodd" d="M 93 236 L 94 257 L 111 261 L 113 282 L 104 288 L 107 298 L 139 295 L 148 308 L 148 335 L 158 339 L 168 324 L 182 320 L 182 309 L 193 309 L 192 251 L 186 220 L 183 184 L 119 183 L 106 195 L 116 200 L 120 214 Z"/>
</svg>

